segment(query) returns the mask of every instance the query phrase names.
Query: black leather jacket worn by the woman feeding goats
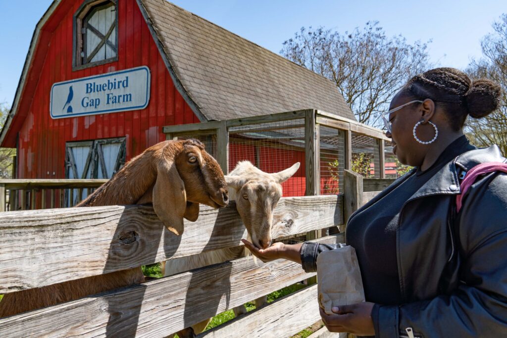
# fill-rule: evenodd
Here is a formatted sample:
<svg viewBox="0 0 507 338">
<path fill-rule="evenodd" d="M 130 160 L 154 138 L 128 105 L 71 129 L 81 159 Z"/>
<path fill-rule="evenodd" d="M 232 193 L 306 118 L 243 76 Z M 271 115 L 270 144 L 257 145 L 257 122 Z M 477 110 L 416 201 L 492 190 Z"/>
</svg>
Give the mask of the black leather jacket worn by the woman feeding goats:
<svg viewBox="0 0 507 338">
<path fill-rule="evenodd" d="M 496 145 L 458 156 L 403 206 L 396 253 L 403 305 L 376 305 L 376 337 L 507 337 L 507 174 L 478 179 L 455 214 L 458 174 L 479 163 L 507 162 Z M 413 172 L 413 171 L 412 171 Z M 400 177 L 360 210 L 382 199 Z M 354 214 L 351 216 L 351 218 Z M 305 243 L 303 269 L 339 245 Z"/>
</svg>

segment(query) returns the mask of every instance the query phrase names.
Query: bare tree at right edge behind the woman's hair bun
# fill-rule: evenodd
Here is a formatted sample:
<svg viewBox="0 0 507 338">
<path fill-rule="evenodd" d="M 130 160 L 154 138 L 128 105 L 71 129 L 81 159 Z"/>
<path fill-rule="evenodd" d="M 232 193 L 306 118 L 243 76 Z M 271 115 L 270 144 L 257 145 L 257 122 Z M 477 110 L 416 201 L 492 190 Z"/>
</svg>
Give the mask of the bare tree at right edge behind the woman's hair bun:
<svg viewBox="0 0 507 338">
<path fill-rule="evenodd" d="M 507 14 L 492 26 L 494 32 L 481 42 L 483 58 L 470 62 L 466 72 L 472 79 L 487 78 L 500 84 L 500 107 L 485 118 L 468 118 L 465 132 L 477 146 L 497 144 L 507 154 Z"/>
</svg>

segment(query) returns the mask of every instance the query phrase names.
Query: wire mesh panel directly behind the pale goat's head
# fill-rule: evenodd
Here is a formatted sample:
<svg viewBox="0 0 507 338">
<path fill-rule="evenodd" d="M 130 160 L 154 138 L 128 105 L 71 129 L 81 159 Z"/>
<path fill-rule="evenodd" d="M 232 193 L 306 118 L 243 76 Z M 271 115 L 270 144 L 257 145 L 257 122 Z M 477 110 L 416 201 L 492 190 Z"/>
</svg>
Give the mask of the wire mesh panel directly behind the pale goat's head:
<svg viewBox="0 0 507 338">
<path fill-rule="evenodd" d="M 264 172 L 279 172 L 300 162 L 299 170 L 282 183 L 283 196 L 304 196 L 304 120 L 245 125 L 229 128 L 229 171 L 240 161 L 250 161 Z"/>
</svg>

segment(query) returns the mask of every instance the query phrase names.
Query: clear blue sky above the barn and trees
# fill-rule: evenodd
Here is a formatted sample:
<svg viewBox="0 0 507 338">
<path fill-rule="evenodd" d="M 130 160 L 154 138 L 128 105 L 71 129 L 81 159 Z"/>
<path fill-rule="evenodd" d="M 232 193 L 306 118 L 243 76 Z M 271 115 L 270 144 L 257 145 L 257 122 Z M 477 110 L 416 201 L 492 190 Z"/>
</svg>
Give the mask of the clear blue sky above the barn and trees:
<svg viewBox="0 0 507 338">
<path fill-rule="evenodd" d="M 121 0 L 120 0 L 121 1 Z M 464 68 L 481 56 L 480 41 L 507 13 L 505 0 L 331 1 L 331 0 L 173 0 L 258 45 L 278 53 L 302 26 L 340 32 L 378 20 L 388 35 L 429 44 L 438 66 Z M 0 0 L 0 102 L 12 104 L 35 25 L 49 0 Z"/>
</svg>

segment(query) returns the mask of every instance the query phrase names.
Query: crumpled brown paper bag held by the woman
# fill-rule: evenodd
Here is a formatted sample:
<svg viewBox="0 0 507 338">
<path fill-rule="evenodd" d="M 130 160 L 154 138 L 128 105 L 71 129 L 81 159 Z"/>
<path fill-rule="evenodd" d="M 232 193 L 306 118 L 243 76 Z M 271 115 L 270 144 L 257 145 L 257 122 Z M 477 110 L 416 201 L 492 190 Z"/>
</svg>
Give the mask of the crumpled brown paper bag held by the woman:
<svg viewBox="0 0 507 338">
<path fill-rule="evenodd" d="M 317 256 L 318 304 L 328 315 L 331 308 L 365 301 L 363 280 L 355 250 L 344 246 Z"/>
</svg>

